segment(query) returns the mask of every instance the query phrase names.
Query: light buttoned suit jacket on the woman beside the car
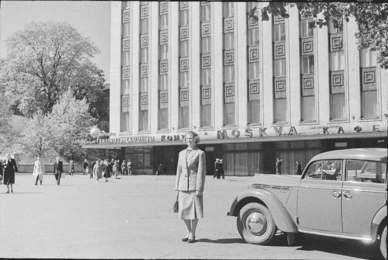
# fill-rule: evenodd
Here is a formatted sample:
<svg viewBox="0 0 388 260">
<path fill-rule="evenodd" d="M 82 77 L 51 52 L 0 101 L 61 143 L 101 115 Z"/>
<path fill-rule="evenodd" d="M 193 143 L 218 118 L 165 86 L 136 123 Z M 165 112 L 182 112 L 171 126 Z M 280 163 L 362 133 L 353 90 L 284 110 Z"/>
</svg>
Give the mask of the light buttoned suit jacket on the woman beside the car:
<svg viewBox="0 0 388 260">
<path fill-rule="evenodd" d="M 179 153 L 175 190 L 203 192 L 206 176 L 204 151 L 195 148 L 187 157 L 186 149 Z"/>
</svg>

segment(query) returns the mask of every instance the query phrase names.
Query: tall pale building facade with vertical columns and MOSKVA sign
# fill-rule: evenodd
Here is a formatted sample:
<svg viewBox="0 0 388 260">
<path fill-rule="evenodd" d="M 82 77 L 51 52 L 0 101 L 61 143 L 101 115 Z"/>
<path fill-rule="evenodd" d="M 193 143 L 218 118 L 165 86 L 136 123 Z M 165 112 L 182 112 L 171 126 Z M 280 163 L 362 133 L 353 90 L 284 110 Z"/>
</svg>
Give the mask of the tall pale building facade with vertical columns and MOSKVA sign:
<svg viewBox="0 0 388 260">
<path fill-rule="evenodd" d="M 388 71 L 357 49 L 355 22 L 254 22 L 263 2 L 112 2 L 110 136 L 135 173 L 175 174 L 189 130 L 208 174 L 295 174 L 316 154 L 387 147 Z M 288 8 L 288 7 L 287 7 Z"/>
</svg>

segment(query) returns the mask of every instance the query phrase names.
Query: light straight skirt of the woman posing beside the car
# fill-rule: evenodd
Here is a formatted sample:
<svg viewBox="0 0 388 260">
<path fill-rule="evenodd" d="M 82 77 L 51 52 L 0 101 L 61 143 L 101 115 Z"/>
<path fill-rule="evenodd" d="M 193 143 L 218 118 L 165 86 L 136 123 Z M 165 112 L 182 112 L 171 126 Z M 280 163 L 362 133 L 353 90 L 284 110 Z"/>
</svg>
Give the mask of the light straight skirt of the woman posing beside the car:
<svg viewBox="0 0 388 260">
<path fill-rule="evenodd" d="M 178 219 L 203 218 L 203 195 L 196 191 L 179 191 Z"/>
</svg>

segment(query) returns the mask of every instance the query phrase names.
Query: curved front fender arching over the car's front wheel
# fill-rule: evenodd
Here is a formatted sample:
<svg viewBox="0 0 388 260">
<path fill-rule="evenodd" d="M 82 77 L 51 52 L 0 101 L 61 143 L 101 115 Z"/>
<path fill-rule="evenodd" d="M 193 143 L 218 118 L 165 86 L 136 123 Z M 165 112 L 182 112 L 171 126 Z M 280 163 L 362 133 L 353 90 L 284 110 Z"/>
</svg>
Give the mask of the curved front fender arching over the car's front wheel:
<svg viewBox="0 0 388 260">
<path fill-rule="evenodd" d="M 276 227 L 281 231 L 291 233 L 298 232 L 298 227 L 292 220 L 290 213 L 287 211 L 286 207 L 284 207 L 283 203 L 281 203 L 273 193 L 264 189 L 249 189 L 240 193 L 234 199 L 232 206 L 230 207 L 229 215 L 237 216 L 240 209 L 243 207 L 242 204 L 246 204 L 246 202 L 249 201 L 249 198 L 259 199 L 262 204 L 268 208 L 274 218 Z"/>
</svg>

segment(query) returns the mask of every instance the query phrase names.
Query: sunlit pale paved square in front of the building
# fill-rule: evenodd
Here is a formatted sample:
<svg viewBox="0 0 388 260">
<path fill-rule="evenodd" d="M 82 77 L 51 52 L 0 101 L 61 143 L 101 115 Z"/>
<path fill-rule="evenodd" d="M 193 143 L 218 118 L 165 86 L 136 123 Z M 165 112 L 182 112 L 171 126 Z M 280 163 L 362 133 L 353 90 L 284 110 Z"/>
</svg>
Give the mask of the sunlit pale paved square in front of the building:
<svg viewBox="0 0 388 260">
<path fill-rule="evenodd" d="M 198 241 L 183 243 L 175 176 L 120 178 L 66 176 L 57 186 L 45 175 L 35 186 L 32 175 L 16 175 L 13 194 L 0 185 L 0 258 L 380 259 L 377 244 L 308 234 L 296 246 L 280 232 L 268 245 L 246 244 L 226 212 L 249 177 L 207 176 Z"/>
</svg>

